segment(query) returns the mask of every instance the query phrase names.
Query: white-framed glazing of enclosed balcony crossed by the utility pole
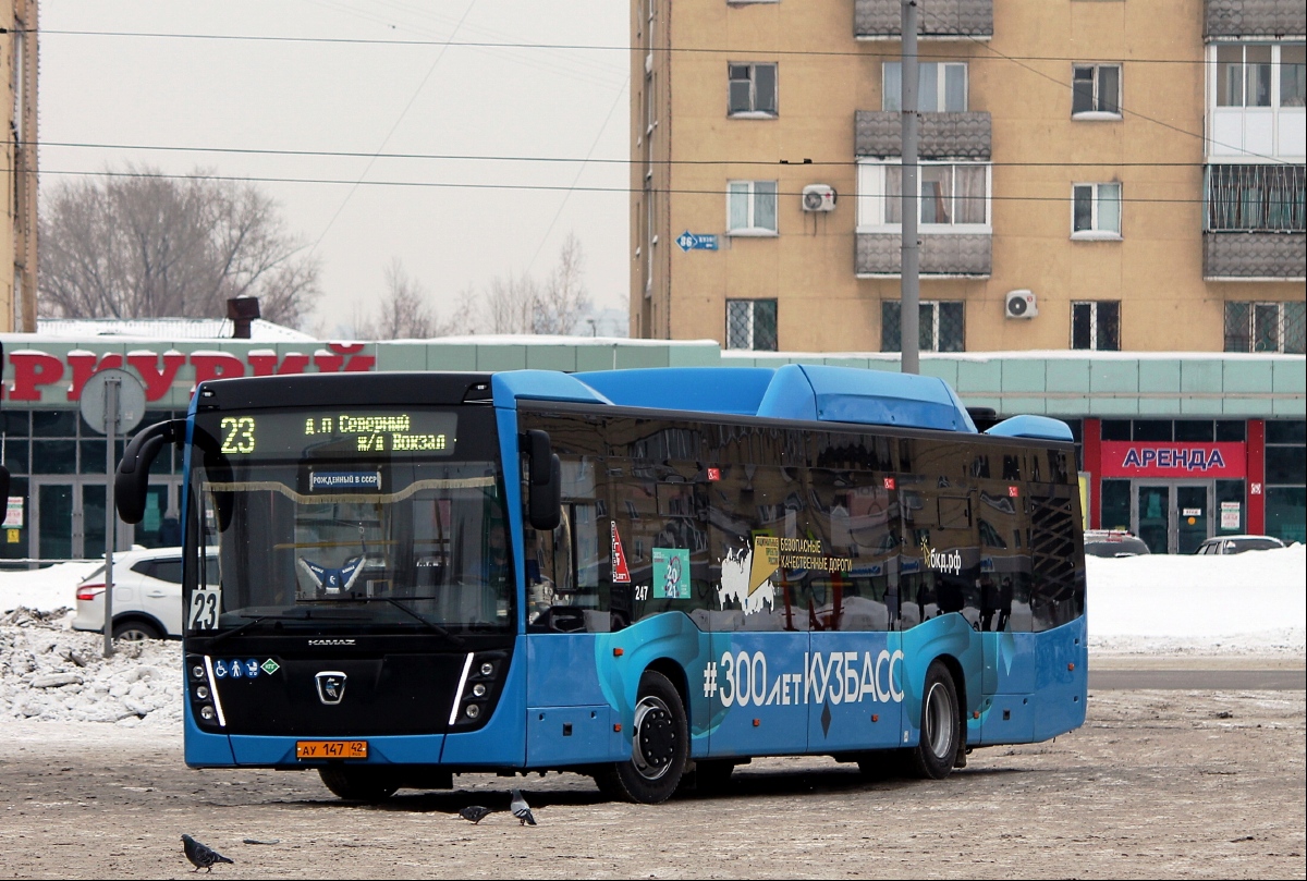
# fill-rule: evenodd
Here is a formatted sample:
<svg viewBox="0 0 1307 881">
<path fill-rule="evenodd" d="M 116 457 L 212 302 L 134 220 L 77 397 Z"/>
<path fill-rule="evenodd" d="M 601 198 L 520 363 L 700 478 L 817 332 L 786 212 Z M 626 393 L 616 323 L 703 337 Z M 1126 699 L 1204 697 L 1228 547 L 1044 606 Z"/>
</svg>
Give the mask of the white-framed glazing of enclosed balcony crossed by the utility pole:
<svg viewBox="0 0 1307 881">
<path fill-rule="evenodd" d="M 989 165 L 923 162 L 923 233 L 989 233 Z M 903 221 L 903 166 L 863 162 L 857 169 L 857 226 L 863 233 L 898 231 Z"/>
</svg>

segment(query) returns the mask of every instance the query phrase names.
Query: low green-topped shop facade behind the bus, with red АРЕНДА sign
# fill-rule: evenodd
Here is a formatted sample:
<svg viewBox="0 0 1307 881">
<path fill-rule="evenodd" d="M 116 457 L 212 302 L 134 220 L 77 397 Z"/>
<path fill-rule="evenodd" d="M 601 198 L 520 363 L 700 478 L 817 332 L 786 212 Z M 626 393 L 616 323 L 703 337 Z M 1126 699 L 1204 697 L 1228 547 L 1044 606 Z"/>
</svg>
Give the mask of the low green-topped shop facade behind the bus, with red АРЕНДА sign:
<svg viewBox="0 0 1307 881">
<path fill-rule="evenodd" d="M 137 323 L 140 324 L 140 323 Z M 159 331 L 175 329 L 166 322 Z M 281 328 L 285 331 L 285 328 Z M 140 331 L 137 329 L 137 333 Z M 97 371 L 140 378 L 141 425 L 186 412 L 197 383 L 222 376 L 393 370 L 612 370 L 830 363 L 897 370 L 895 356 L 723 352 L 714 341 L 494 337 L 327 342 L 267 339 L 0 335 L 0 457 L 13 477 L 0 559 L 102 557 L 106 440 L 82 420 Z M 1067 421 L 1080 442 L 1086 527 L 1125 528 L 1154 553 L 1189 553 L 1218 535 L 1307 541 L 1304 358 L 1281 354 L 923 354 L 921 371 L 968 407 Z M 115 461 L 120 455 L 115 451 Z M 140 524 L 116 546 L 175 542 L 182 461 L 156 460 Z"/>
</svg>

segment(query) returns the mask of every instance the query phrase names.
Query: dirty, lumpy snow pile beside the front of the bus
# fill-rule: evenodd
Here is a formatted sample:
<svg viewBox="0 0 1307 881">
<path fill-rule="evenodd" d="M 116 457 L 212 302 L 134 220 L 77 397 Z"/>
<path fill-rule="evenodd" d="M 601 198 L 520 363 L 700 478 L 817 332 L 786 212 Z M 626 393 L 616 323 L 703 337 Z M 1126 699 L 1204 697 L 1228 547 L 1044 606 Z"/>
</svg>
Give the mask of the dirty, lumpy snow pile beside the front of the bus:
<svg viewBox="0 0 1307 881">
<path fill-rule="evenodd" d="M 176 728 L 182 722 L 182 644 L 119 643 L 68 630 L 64 610 L 0 616 L 0 724 L 9 719 L 112 722 Z"/>
</svg>

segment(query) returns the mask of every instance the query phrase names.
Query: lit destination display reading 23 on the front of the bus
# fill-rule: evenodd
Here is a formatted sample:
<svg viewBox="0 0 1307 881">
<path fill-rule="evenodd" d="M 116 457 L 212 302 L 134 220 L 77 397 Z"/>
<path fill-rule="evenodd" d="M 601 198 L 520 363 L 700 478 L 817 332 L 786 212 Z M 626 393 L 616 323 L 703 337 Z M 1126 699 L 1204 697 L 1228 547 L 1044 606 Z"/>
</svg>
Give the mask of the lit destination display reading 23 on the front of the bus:
<svg viewBox="0 0 1307 881">
<path fill-rule="evenodd" d="M 456 414 L 434 410 L 222 416 L 218 448 L 227 456 L 448 456 L 456 425 Z"/>
</svg>

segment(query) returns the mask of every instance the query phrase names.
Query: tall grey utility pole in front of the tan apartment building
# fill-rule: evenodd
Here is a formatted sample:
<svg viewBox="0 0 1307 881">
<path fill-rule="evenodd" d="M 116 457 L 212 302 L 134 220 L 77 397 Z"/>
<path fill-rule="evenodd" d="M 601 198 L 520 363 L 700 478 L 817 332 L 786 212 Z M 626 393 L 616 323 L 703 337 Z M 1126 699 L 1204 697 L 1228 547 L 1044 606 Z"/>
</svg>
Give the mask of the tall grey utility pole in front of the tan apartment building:
<svg viewBox="0 0 1307 881">
<path fill-rule="evenodd" d="M 903 242 L 902 242 L 902 281 L 899 298 L 899 352 L 901 367 L 906 374 L 921 373 L 919 349 L 920 340 L 920 254 L 918 252 L 916 222 L 920 218 L 918 200 L 921 187 L 918 183 L 916 162 L 916 123 L 918 123 L 918 72 L 916 72 L 916 1 L 903 3 L 903 42 L 899 71 L 903 78 Z"/>
</svg>

